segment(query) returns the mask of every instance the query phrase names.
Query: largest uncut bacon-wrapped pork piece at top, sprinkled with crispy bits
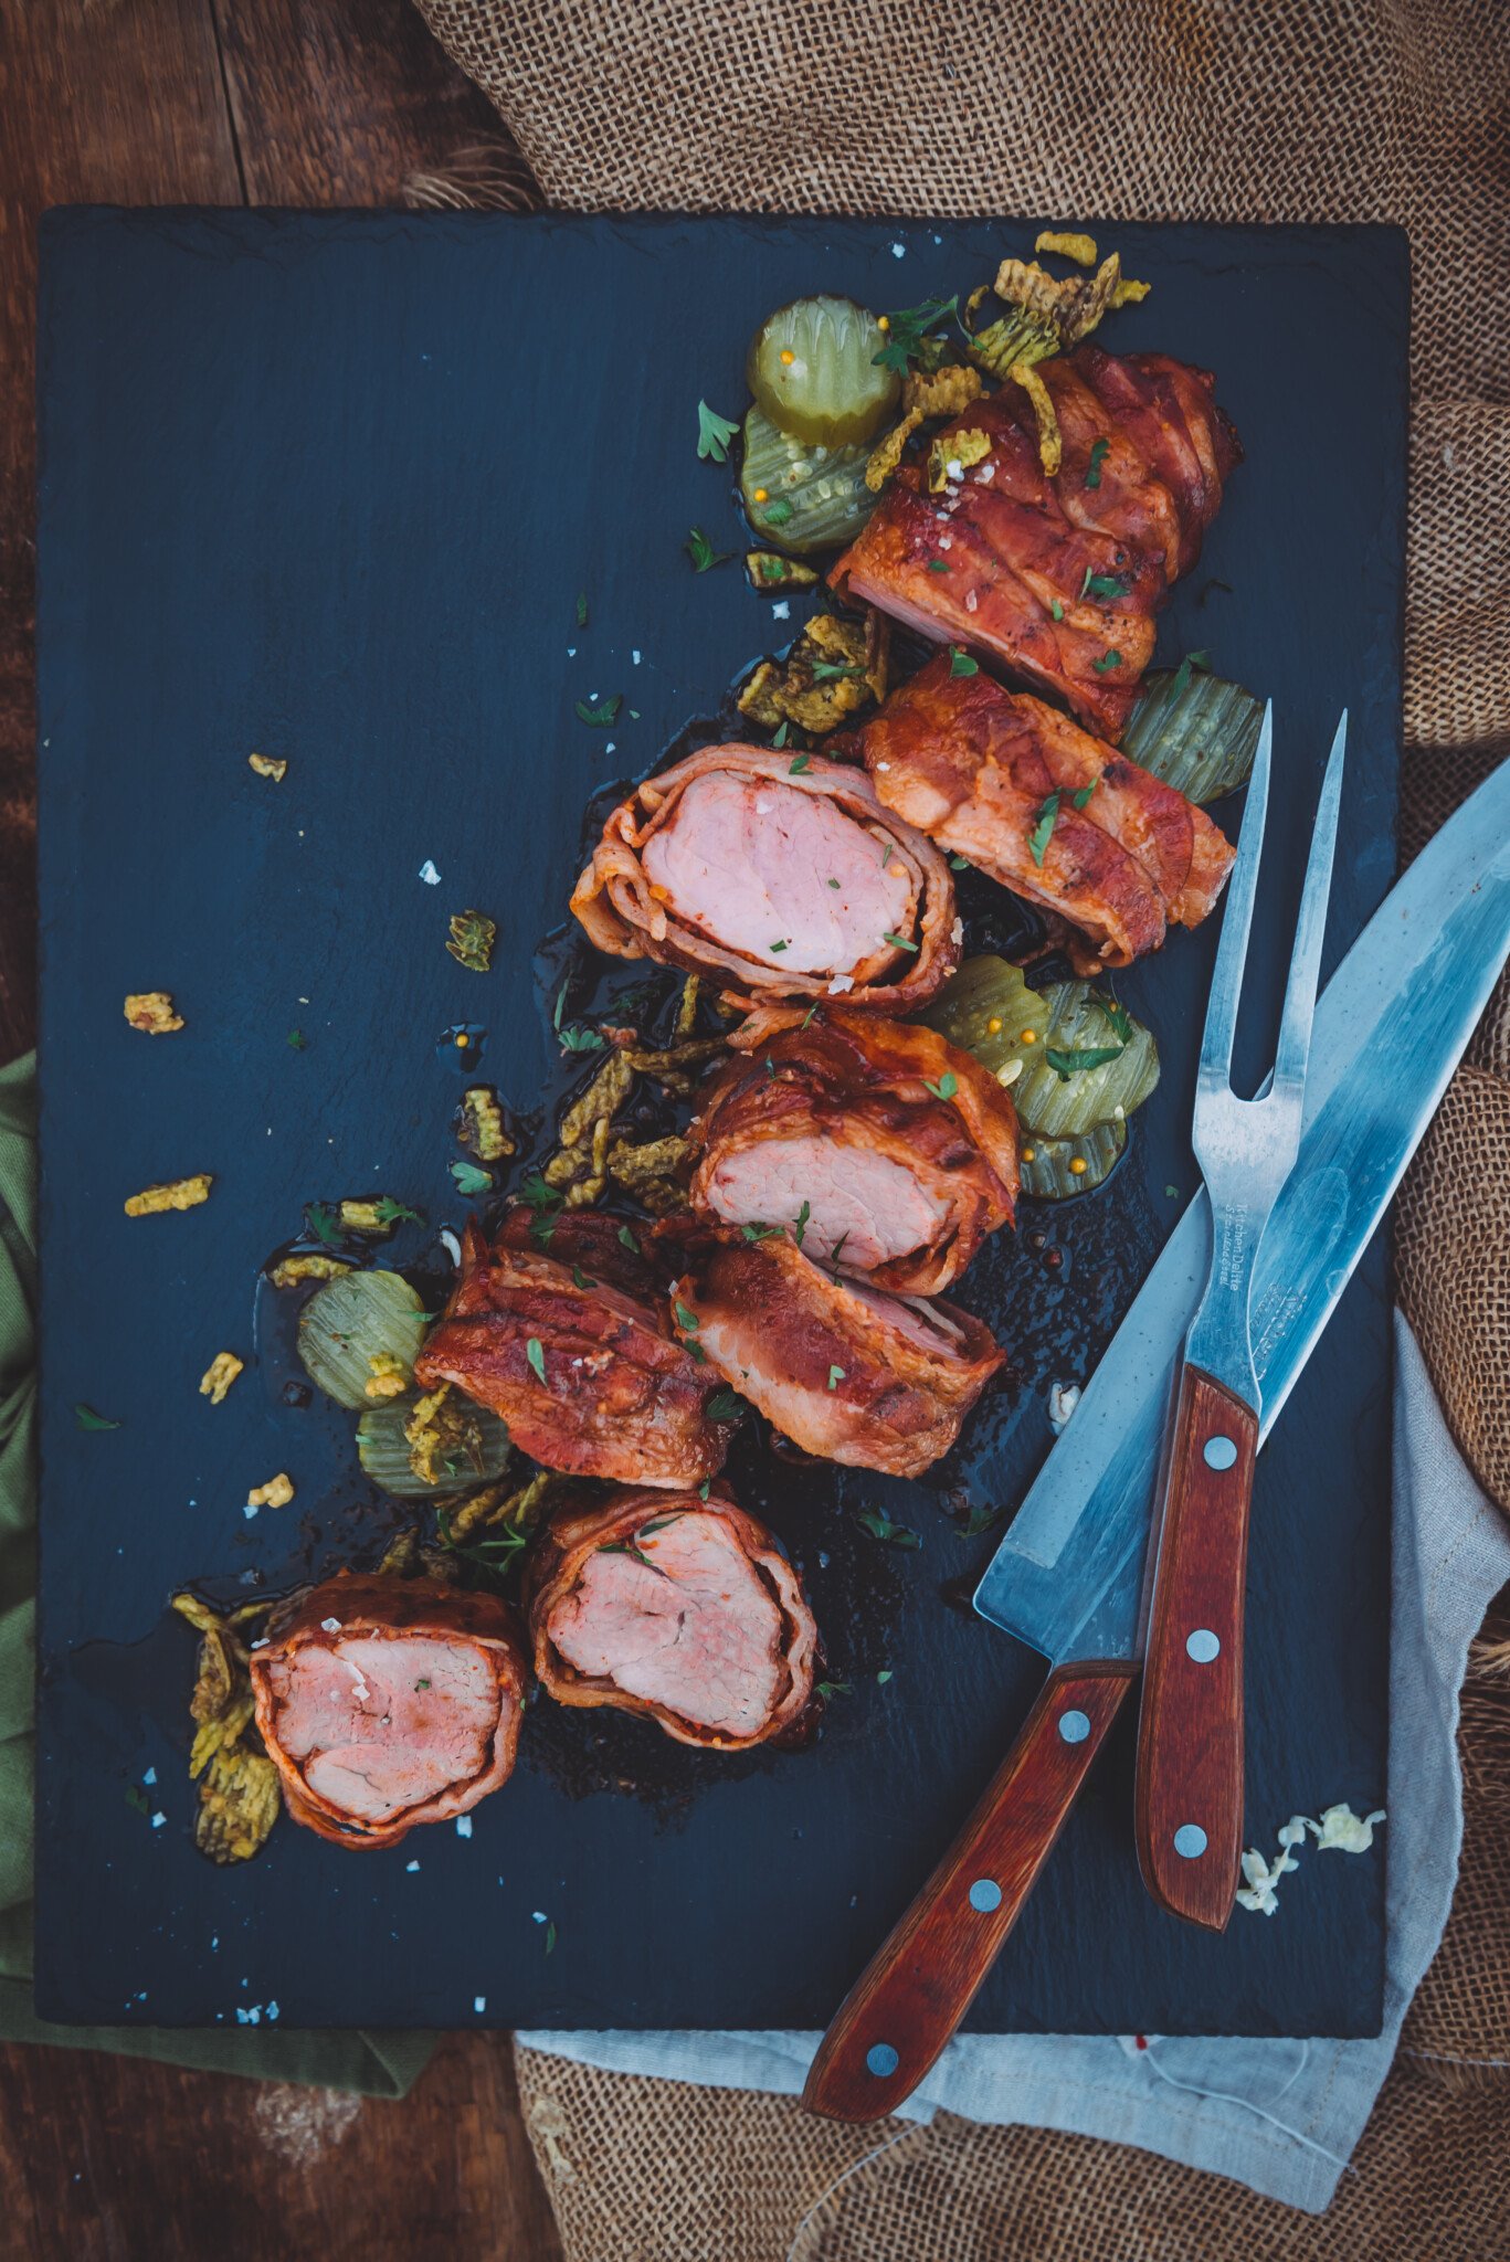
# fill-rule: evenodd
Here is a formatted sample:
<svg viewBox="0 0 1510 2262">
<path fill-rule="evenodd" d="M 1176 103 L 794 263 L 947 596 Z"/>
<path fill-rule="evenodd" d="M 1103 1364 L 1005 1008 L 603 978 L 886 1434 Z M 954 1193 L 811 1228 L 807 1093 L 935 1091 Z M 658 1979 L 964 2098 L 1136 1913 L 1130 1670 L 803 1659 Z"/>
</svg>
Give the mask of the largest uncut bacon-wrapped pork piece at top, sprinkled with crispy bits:
<svg viewBox="0 0 1510 2262">
<path fill-rule="evenodd" d="M 1019 385 L 973 400 L 940 439 L 958 475 L 903 464 L 833 586 L 940 642 L 969 645 L 1064 699 L 1103 737 L 1127 722 L 1170 581 L 1200 556 L 1238 437 L 1204 369 L 1100 346 L 1039 362 L 1059 418 L 1039 464 Z M 985 434 L 989 448 L 964 434 Z"/>
</svg>

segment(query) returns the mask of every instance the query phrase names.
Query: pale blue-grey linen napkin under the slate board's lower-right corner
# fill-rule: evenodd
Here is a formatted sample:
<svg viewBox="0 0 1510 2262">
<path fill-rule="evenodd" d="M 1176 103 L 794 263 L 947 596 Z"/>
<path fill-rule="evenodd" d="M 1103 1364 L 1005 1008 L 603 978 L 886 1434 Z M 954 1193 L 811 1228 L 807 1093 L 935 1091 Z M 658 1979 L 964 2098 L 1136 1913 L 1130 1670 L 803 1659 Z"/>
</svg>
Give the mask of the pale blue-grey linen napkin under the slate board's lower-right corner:
<svg viewBox="0 0 1510 2262">
<path fill-rule="evenodd" d="M 1458 1690 L 1483 1613 L 1510 1581 L 1510 1527 L 1465 1468 L 1399 1314 L 1392 1577 L 1383 2034 L 1356 2043 L 1150 2036 L 1146 2047 L 1132 2036 L 964 2034 L 903 2108 L 908 2117 L 930 2119 L 942 2106 L 980 2122 L 1071 2129 L 1232 2176 L 1311 2214 L 1329 2205 L 1447 1925 L 1462 1848 Z M 604 2031 L 518 2040 L 625 2074 L 797 2095 L 820 2038 Z"/>
</svg>

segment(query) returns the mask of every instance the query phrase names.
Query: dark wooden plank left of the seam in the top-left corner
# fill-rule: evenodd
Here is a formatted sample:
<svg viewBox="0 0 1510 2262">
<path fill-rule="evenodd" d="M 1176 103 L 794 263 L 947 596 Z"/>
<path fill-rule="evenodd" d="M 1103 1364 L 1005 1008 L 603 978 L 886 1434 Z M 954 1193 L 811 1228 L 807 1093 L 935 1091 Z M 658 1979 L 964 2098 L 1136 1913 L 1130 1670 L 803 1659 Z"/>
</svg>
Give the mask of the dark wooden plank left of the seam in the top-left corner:
<svg viewBox="0 0 1510 2262">
<path fill-rule="evenodd" d="M 52 204 L 240 204 L 204 0 L 0 0 L 0 1059 L 36 1029 L 36 219 Z"/>
</svg>

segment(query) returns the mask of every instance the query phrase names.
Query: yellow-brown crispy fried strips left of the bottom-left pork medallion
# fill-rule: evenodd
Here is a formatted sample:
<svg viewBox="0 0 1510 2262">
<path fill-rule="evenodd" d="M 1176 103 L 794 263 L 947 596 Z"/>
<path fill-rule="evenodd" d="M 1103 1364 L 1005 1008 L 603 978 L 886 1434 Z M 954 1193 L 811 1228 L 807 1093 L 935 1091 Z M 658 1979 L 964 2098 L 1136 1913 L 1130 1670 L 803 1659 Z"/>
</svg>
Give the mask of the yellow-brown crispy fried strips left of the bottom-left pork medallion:
<svg viewBox="0 0 1510 2262">
<path fill-rule="evenodd" d="M 235 1629 L 269 1604 L 254 1601 L 229 1617 L 197 1595 L 174 1595 L 172 1606 L 199 1633 L 199 1674 L 188 1703 L 195 1721 L 188 1773 L 199 1785 L 195 1846 L 211 1862 L 249 1862 L 267 1844 L 283 1796 L 278 1769 L 254 1726 L 249 1651 Z"/>
</svg>

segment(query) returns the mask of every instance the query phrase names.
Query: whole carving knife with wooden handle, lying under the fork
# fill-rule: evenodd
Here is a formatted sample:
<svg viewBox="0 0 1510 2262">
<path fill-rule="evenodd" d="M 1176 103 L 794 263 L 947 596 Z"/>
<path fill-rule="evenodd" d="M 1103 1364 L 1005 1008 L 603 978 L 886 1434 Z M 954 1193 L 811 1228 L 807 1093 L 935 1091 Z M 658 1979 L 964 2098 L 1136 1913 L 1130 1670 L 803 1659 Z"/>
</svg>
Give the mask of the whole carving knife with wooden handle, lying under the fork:
<svg viewBox="0 0 1510 2262">
<path fill-rule="evenodd" d="M 1383 1219 L 1505 957 L 1510 762 L 1429 841 L 1318 1002 L 1299 1160 L 1254 1267 L 1259 1443 Z M 1385 1027 L 1381 1074 L 1370 1056 Z M 1392 1072 L 1399 1061 L 1408 1077 Z M 1136 1678 L 1168 1378 L 1209 1269 L 1202 1192 L 976 1588 L 980 1615 L 1053 1669 L 958 1839 L 835 2013 L 804 2088 L 810 2113 L 869 2122 L 912 2095 L 996 1961 Z"/>
</svg>

